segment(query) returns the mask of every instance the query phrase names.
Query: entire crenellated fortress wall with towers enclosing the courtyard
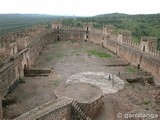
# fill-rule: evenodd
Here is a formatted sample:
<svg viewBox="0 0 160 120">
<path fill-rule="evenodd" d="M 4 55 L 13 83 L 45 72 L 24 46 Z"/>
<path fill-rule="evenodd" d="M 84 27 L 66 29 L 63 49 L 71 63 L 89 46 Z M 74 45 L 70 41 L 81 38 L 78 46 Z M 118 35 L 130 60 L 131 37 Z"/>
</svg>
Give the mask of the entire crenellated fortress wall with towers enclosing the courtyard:
<svg viewBox="0 0 160 120">
<path fill-rule="evenodd" d="M 77 28 L 54 22 L 51 28 L 45 25 L 34 26 L 1 36 L 1 99 L 4 99 L 4 96 L 23 78 L 25 72 L 33 66 L 41 50 L 59 40 L 84 40 L 102 45 L 130 64 L 150 72 L 156 78 L 155 84 L 159 85 L 160 51 L 156 50 L 157 38 L 145 36 L 141 38 L 141 43 L 137 44 L 131 41 L 131 34 L 128 31 L 113 36 L 113 28 L 114 26 L 107 25 L 103 29 L 94 29 L 90 23 L 84 24 L 83 28 Z"/>
</svg>

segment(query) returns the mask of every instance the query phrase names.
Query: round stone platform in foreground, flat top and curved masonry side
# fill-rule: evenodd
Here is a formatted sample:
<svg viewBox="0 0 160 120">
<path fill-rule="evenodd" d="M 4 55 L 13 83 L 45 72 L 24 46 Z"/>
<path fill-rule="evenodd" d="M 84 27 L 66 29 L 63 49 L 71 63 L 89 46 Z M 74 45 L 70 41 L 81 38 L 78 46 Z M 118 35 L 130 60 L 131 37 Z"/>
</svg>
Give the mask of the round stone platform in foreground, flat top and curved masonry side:
<svg viewBox="0 0 160 120">
<path fill-rule="evenodd" d="M 57 88 L 55 94 L 58 98 L 67 97 L 76 101 L 78 107 L 72 104 L 74 110 L 80 114 L 86 113 L 91 119 L 101 113 L 104 105 L 102 90 L 90 83 L 68 83 Z"/>
</svg>

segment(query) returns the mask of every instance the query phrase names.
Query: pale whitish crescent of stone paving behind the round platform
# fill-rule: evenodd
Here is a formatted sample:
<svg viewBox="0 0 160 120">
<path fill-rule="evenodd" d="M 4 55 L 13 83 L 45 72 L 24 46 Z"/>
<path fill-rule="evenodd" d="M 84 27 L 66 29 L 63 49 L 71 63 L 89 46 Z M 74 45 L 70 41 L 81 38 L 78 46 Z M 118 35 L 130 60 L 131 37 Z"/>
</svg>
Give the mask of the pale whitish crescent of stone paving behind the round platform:
<svg viewBox="0 0 160 120">
<path fill-rule="evenodd" d="M 82 72 L 70 76 L 66 83 L 90 83 L 99 87 L 104 94 L 116 93 L 124 88 L 125 82 L 118 76 L 104 72 Z M 83 88 L 81 88 L 83 89 Z"/>
</svg>

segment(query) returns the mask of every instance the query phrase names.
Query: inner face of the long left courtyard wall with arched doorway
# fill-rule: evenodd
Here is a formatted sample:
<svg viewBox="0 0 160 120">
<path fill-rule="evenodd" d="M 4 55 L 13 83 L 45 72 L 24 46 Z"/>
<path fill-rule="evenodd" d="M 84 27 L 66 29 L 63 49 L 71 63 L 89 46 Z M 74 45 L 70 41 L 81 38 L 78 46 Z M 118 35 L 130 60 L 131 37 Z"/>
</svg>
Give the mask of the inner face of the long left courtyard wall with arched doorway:
<svg viewBox="0 0 160 120">
<path fill-rule="evenodd" d="M 56 38 L 56 31 L 49 30 L 41 35 L 35 36 L 33 42 L 19 53 L 0 59 L 0 94 L 2 98 L 7 94 L 10 87 L 17 80 L 23 78 L 24 69 L 30 69 L 42 49 Z M 15 50 L 15 49 L 14 49 Z"/>
</svg>

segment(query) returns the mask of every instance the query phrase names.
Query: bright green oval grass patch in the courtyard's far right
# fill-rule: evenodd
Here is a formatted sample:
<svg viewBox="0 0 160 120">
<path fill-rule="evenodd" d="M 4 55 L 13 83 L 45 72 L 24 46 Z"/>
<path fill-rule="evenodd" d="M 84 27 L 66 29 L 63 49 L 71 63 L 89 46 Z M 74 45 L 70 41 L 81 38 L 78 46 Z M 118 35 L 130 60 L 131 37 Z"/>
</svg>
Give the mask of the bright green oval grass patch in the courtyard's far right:
<svg viewBox="0 0 160 120">
<path fill-rule="evenodd" d="M 97 56 L 97 57 L 101 57 L 101 58 L 110 58 L 112 57 L 110 54 L 107 54 L 105 52 L 97 52 L 95 50 L 90 50 L 88 51 L 89 54 Z"/>
</svg>

